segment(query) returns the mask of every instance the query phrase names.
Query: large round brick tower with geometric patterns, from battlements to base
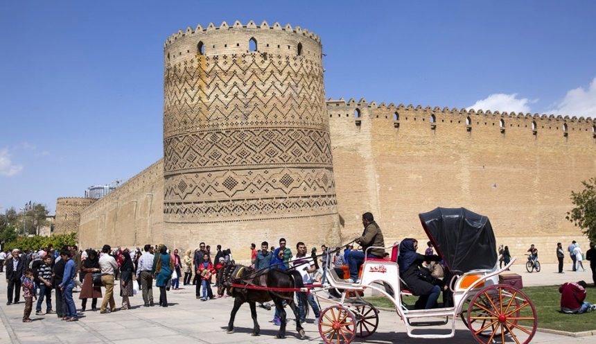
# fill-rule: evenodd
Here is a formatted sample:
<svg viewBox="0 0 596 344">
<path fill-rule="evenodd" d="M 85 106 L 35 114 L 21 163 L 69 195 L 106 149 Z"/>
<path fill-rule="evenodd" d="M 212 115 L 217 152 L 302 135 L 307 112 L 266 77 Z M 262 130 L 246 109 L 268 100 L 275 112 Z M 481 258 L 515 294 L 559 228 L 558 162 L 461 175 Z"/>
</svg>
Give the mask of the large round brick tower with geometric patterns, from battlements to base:
<svg viewBox="0 0 596 344">
<path fill-rule="evenodd" d="M 168 38 L 164 59 L 166 242 L 338 243 L 319 37 L 209 24 Z"/>
</svg>

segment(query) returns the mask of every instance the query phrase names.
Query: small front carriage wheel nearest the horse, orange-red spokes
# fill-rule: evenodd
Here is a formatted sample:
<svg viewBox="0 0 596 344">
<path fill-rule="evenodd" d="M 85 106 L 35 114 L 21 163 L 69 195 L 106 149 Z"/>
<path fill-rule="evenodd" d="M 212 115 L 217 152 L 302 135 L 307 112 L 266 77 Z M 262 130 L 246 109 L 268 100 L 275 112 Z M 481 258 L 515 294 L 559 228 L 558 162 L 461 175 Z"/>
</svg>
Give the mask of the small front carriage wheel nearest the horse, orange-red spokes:
<svg viewBox="0 0 596 344">
<path fill-rule="evenodd" d="M 344 306 L 328 307 L 319 316 L 319 334 L 327 344 L 349 344 L 356 336 L 356 318 Z"/>
</svg>

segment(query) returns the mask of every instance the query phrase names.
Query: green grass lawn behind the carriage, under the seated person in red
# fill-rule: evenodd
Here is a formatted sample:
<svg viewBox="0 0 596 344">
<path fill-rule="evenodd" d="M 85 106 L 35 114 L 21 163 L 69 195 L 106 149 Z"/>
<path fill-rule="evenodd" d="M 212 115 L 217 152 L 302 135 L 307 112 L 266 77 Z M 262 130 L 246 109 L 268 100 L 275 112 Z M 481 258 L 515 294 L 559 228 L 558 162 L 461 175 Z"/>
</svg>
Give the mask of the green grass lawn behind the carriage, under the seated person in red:
<svg viewBox="0 0 596 344">
<path fill-rule="evenodd" d="M 536 308 L 538 314 L 538 327 L 543 329 L 556 329 L 567 332 L 582 332 L 596 329 L 596 312 L 584 314 L 565 314 L 559 312 L 561 294 L 559 286 L 532 286 L 522 289 Z M 393 309 L 392 302 L 383 297 L 366 298 L 376 307 Z M 417 298 L 404 298 L 407 304 L 413 304 Z M 441 300 L 441 297 L 439 297 Z M 596 288 L 588 286 L 588 302 L 596 303 Z"/>
</svg>

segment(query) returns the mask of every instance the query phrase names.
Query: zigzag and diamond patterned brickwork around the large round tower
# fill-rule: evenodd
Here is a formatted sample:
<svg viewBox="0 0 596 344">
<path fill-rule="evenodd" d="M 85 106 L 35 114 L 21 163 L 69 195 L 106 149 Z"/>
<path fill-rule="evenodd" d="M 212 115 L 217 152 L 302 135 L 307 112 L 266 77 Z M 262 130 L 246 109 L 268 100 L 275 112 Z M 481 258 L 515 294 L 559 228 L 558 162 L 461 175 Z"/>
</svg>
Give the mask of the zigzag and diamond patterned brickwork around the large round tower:
<svg viewBox="0 0 596 344">
<path fill-rule="evenodd" d="M 164 221 L 337 213 L 320 59 L 189 55 L 164 74 Z"/>
</svg>

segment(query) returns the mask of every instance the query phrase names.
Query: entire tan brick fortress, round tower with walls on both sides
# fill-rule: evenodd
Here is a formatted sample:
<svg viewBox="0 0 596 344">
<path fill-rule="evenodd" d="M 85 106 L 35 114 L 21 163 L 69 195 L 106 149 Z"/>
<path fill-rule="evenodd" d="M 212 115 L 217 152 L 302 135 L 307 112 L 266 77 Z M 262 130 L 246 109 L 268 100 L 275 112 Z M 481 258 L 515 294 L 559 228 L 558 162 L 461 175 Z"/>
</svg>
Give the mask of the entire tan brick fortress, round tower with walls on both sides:
<svg viewBox="0 0 596 344">
<path fill-rule="evenodd" d="M 417 215 L 441 206 L 489 216 L 518 257 L 530 243 L 543 262 L 556 241 L 588 247 L 565 215 L 596 172 L 592 119 L 325 102 L 320 42 L 266 22 L 168 37 L 164 160 L 80 209 L 78 227 L 59 225 L 59 199 L 56 229 L 82 247 L 206 241 L 243 259 L 281 236 L 350 241 L 368 211 L 385 243 L 424 239 Z"/>
</svg>

